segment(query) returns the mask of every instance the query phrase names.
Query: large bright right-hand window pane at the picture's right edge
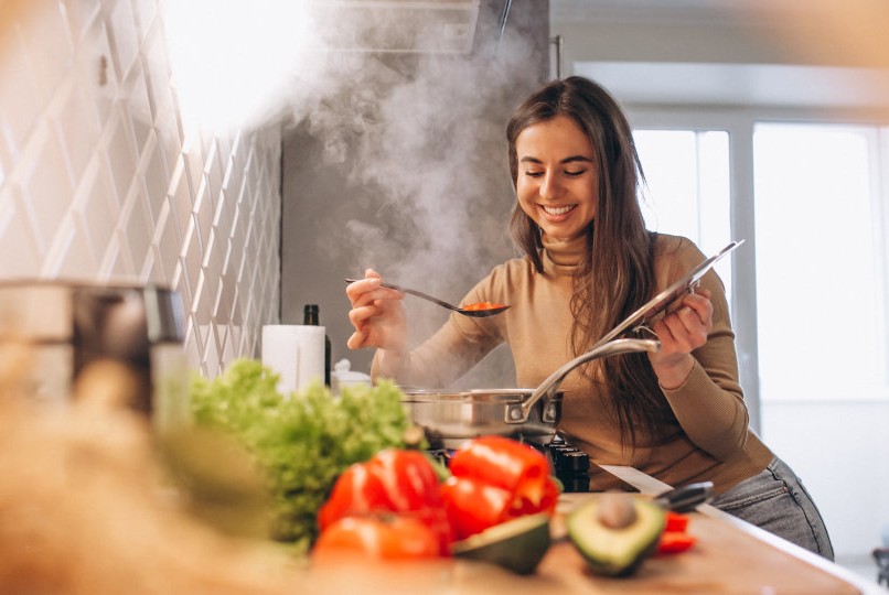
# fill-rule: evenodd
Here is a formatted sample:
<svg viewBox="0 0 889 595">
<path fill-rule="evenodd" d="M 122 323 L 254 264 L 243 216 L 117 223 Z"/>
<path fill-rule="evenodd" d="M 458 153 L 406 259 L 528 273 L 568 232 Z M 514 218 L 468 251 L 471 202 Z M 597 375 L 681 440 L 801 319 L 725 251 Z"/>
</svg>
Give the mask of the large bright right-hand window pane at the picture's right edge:
<svg viewBox="0 0 889 595">
<path fill-rule="evenodd" d="M 753 132 L 762 399 L 886 396 L 879 130 Z"/>
</svg>

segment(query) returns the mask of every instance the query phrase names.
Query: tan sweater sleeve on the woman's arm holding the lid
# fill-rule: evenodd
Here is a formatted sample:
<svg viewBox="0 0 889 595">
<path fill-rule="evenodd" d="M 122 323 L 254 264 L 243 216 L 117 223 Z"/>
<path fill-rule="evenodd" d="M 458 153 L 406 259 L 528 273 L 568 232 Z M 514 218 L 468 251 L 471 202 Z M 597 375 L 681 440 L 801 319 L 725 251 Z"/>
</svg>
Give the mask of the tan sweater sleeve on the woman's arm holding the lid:
<svg viewBox="0 0 889 595">
<path fill-rule="evenodd" d="M 662 390 L 688 440 L 716 459 L 727 461 L 745 447 L 749 413 L 738 381 L 725 288 L 714 271 L 704 277 L 701 286 L 710 291 L 713 329 L 707 343 L 693 351 L 695 366 L 685 382 Z"/>
</svg>

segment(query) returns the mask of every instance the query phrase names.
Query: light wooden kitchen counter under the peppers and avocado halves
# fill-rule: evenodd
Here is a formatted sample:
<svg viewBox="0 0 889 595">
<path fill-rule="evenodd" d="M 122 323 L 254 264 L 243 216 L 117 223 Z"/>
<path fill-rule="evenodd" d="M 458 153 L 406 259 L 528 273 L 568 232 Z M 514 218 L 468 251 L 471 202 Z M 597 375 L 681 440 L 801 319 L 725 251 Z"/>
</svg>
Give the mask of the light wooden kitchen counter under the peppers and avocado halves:
<svg viewBox="0 0 889 595">
<path fill-rule="evenodd" d="M 629 467 L 603 468 L 645 495 L 670 487 Z M 563 495 L 557 521 L 589 497 L 589 494 Z M 876 583 L 869 584 L 818 555 L 711 506 L 701 506 L 690 516 L 688 531 L 697 538 L 692 550 L 651 558 L 634 575 L 624 578 L 590 574 L 582 558 L 566 541 L 554 543 L 532 576 L 516 576 L 495 566 L 464 561 L 368 565 L 354 571 L 317 569 L 314 572 L 320 584 L 335 593 L 355 589 L 448 595 L 885 593 Z"/>
</svg>

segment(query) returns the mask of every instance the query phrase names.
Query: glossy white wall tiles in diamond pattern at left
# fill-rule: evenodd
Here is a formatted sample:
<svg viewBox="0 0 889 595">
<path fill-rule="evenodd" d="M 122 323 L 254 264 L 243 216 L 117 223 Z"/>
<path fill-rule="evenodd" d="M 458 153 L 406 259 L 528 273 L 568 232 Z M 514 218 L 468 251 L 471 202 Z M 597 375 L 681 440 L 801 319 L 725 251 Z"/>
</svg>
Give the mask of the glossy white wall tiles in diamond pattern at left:
<svg viewBox="0 0 889 595">
<path fill-rule="evenodd" d="M 278 321 L 280 133 L 183 121 L 160 6 L 0 2 L 0 279 L 171 286 L 214 376 Z"/>
</svg>

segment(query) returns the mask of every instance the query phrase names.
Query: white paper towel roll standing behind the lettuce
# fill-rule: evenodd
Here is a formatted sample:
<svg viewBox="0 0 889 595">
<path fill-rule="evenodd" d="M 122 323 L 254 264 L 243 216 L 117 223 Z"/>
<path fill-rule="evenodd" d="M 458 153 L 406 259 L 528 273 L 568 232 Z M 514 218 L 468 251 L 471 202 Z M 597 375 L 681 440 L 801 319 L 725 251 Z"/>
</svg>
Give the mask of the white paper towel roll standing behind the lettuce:
<svg viewBox="0 0 889 595">
<path fill-rule="evenodd" d="M 324 327 L 302 324 L 263 326 L 263 364 L 278 375 L 283 396 L 324 381 Z"/>
</svg>

